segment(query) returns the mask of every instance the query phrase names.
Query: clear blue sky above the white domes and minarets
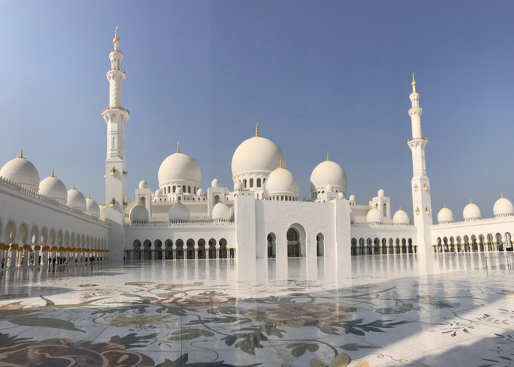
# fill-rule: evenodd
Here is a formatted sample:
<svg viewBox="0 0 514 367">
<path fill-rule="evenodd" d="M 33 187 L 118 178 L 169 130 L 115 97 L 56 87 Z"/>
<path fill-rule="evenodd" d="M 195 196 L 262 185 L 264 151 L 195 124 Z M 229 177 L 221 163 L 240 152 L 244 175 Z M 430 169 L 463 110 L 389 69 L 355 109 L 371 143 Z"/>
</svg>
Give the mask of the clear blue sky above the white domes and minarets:
<svg viewBox="0 0 514 367">
<path fill-rule="evenodd" d="M 412 217 L 410 81 L 416 72 L 434 220 L 473 199 L 514 201 L 514 3 L 507 1 L 0 2 L 0 164 L 105 196 L 114 27 L 126 71 L 127 196 L 176 150 L 202 187 L 232 188 L 232 154 L 277 143 L 300 197 L 330 151 L 365 204 L 383 188 Z"/>
</svg>

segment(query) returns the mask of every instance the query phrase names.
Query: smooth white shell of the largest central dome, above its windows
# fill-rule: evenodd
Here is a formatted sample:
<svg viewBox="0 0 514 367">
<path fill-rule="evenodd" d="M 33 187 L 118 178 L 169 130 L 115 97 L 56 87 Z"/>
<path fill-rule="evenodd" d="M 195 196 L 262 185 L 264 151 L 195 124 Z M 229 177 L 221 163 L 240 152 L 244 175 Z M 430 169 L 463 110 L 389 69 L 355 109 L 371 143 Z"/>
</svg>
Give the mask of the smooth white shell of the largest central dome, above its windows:
<svg viewBox="0 0 514 367">
<path fill-rule="evenodd" d="M 232 156 L 232 176 L 243 173 L 270 173 L 279 166 L 286 167 L 284 153 L 279 146 L 261 136 L 243 141 Z"/>
</svg>

